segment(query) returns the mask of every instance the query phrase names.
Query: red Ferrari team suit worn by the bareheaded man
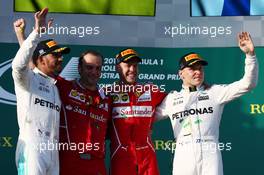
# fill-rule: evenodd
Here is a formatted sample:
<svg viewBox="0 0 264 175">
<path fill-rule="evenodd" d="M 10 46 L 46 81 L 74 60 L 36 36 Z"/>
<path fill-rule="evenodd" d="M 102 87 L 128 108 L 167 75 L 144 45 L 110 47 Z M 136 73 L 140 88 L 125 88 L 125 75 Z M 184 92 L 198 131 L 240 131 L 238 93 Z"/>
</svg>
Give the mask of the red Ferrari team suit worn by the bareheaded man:
<svg viewBox="0 0 264 175">
<path fill-rule="evenodd" d="M 107 174 L 105 138 L 111 99 L 102 90 L 83 88 L 78 80 L 66 81 L 59 77 L 57 84 L 62 101 L 60 174 Z"/>
</svg>

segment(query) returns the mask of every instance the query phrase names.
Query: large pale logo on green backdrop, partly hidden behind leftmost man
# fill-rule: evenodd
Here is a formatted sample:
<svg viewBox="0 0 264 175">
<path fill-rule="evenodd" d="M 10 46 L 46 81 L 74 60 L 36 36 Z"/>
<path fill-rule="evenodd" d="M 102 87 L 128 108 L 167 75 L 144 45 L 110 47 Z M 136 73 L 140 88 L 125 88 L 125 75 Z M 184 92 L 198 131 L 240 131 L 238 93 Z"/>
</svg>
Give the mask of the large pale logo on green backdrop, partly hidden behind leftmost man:
<svg viewBox="0 0 264 175">
<path fill-rule="evenodd" d="M 3 63 L 0 63 L 0 78 L 11 69 L 13 59 L 9 59 Z M 79 77 L 78 73 L 78 57 L 72 57 L 67 65 L 62 70 L 61 77 L 66 80 L 73 80 Z M 13 81 L 13 80 L 10 80 Z M 16 95 L 8 92 L 6 89 L 2 87 L 0 84 L 0 103 L 16 105 Z"/>
</svg>

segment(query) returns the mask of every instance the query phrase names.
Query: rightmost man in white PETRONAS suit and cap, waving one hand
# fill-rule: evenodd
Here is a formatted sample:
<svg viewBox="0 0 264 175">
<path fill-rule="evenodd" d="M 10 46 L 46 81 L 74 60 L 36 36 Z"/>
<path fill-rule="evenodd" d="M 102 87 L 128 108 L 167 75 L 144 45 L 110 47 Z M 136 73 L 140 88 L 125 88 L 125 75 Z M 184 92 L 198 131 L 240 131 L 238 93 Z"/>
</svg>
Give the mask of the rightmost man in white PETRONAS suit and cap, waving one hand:
<svg viewBox="0 0 264 175">
<path fill-rule="evenodd" d="M 156 111 L 156 120 L 169 117 L 174 131 L 173 175 L 223 174 L 217 145 L 224 105 L 254 88 L 258 79 L 258 63 L 250 35 L 242 32 L 238 42 L 246 54 L 245 74 L 231 84 L 206 85 L 203 66 L 207 62 L 196 53 L 180 60 L 182 90 L 169 93 Z"/>
</svg>

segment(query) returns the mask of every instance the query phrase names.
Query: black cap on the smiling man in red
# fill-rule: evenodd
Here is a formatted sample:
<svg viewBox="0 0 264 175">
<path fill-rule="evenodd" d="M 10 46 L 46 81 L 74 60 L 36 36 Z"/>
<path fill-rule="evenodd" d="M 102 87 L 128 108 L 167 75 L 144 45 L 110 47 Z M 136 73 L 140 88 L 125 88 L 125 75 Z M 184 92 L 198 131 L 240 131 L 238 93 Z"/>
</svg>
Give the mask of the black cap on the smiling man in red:
<svg viewBox="0 0 264 175">
<path fill-rule="evenodd" d="M 119 54 L 116 55 L 116 64 L 121 62 L 127 63 L 131 60 L 136 60 L 137 62 L 141 62 L 141 58 L 139 58 L 137 52 L 133 49 L 125 49 L 122 50 Z"/>
</svg>

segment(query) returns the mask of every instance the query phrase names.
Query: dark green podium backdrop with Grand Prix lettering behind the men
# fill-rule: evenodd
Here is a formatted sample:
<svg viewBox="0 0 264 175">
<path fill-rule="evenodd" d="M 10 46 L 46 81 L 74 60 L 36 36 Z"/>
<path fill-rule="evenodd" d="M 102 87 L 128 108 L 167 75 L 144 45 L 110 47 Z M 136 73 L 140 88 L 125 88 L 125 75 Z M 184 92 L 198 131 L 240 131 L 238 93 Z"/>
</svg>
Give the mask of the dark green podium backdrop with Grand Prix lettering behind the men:
<svg viewBox="0 0 264 175">
<path fill-rule="evenodd" d="M 118 80 L 115 71 L 115 55 L 123 47 L 68 45 L 71 53 L 64 58 L 62 76 L 73 79 L 78 76 L 77 62 L 81 52 L 93 49 L 104 56 L 100 84 L 111 84 Z M 11 76 L 11 62 L 18 44 L 0 43 L 0 162 L 1 174 L 15 175 L 15 149 L 19 133 L 16 115 L 16 98 Z M 242 78 L 245 55 L 238 47 L 232 48 L 134 48 L 143 62 L 140 65 L 139 81 L 153 82 L 171 90 L 181 89 L 177 75 L 179 58 L 188 52 L 197 52 L 209 65 L 205 67 L 205 79 L 209 84 L 228 84 Z M 220 125 L 220 147 L 223 155 L 225 175 L 263 174 L 264 161 L 264 49 L 256 48 L 259 60 L 259 83 L 245 96 L 226 105 Z M 155 123 L 153 142 L 158 157 L 161 175 L 172 169 L 173 134 L 170 121 Z M 107 144 L 109 146 L 109 144 Z M 106 156 L 109 166 L 109 148 Z"/>
</svg>

